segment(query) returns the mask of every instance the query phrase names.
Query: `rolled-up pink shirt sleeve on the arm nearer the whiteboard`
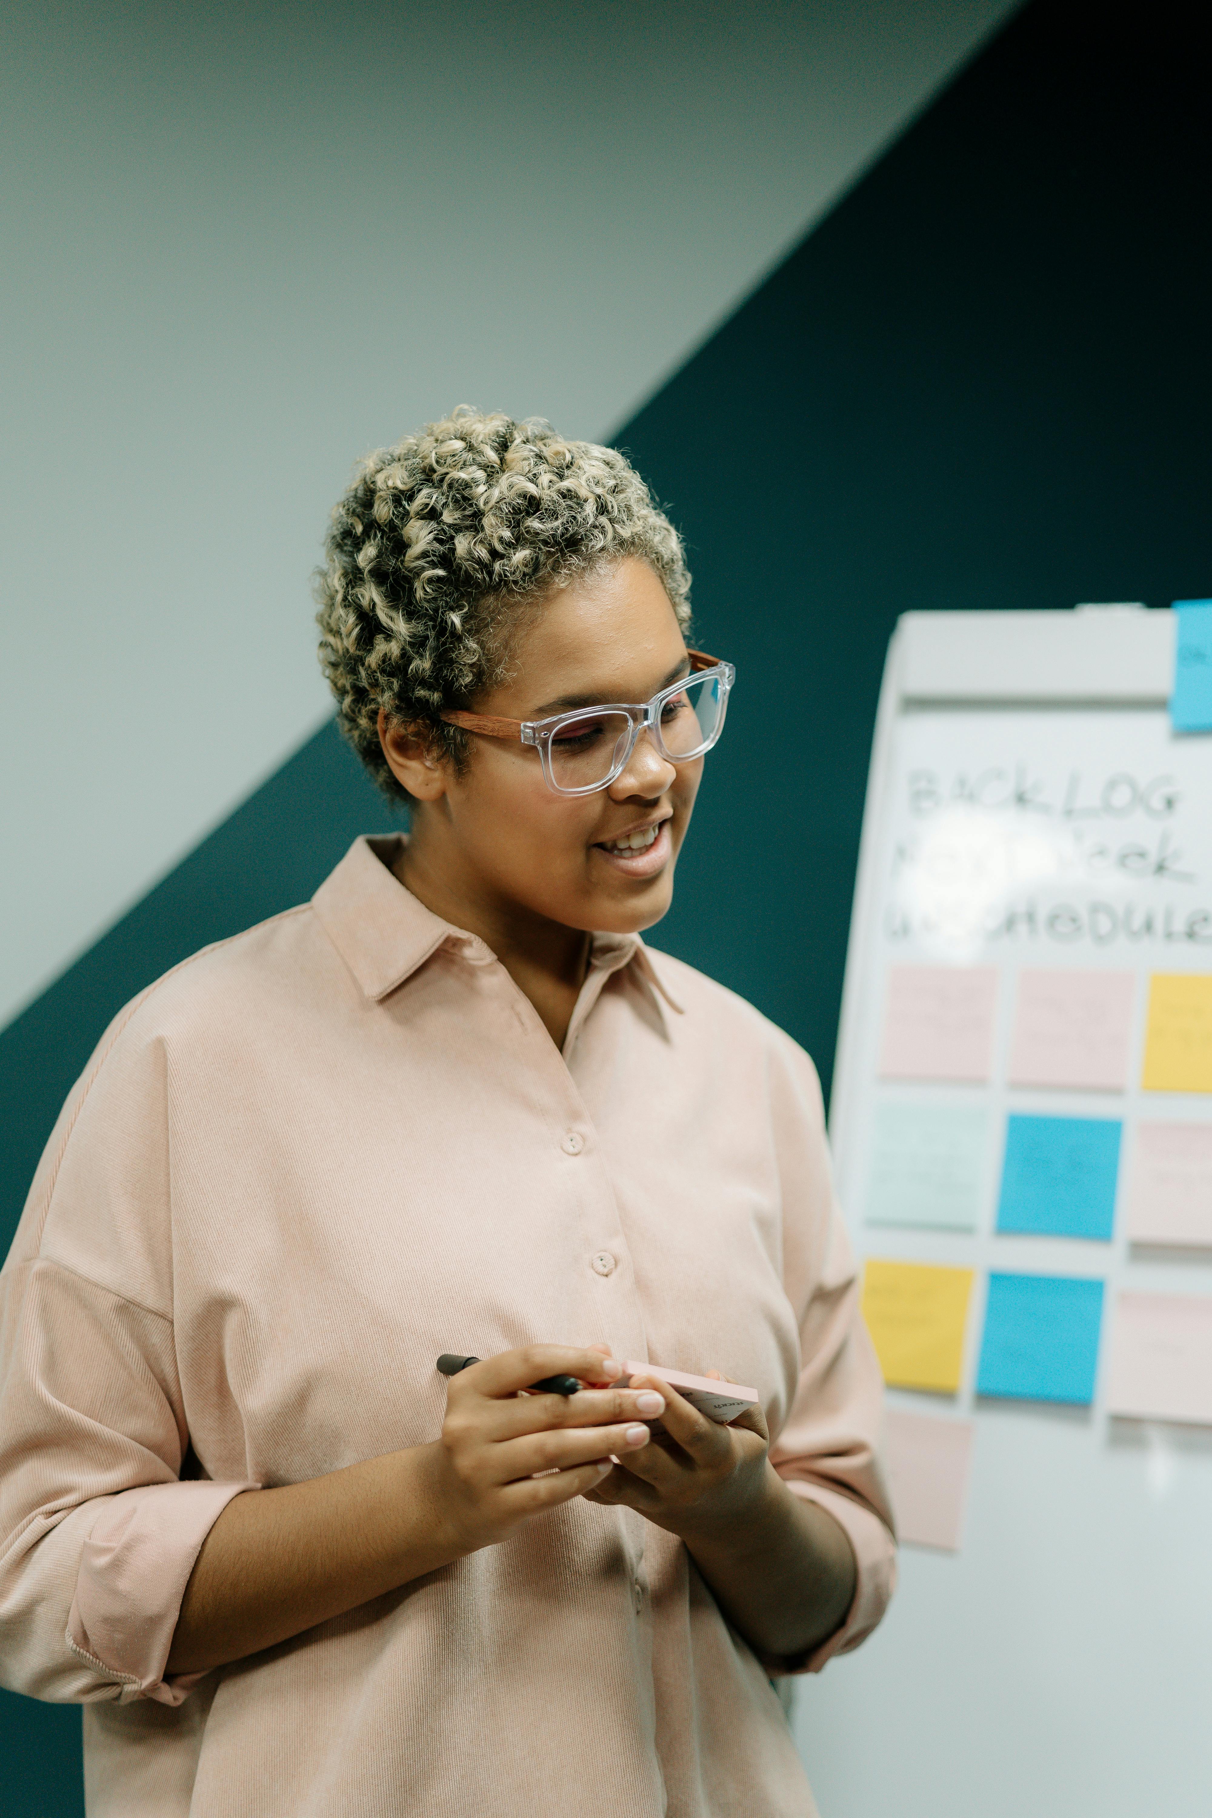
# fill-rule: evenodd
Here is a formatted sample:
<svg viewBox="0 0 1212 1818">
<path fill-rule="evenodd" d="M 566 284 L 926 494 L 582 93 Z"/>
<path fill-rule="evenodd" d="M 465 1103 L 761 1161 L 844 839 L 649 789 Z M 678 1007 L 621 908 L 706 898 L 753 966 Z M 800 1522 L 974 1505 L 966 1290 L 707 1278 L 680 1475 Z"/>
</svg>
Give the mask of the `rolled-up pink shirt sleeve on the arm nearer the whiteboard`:
<svg viewBox="0 0 1212 1818">
<path fill-rule="evenodd" d="M 789 1047 L 792 1047 L 789 1044 Z M 820 1673 L 858 1647 L 896 1589 L 892 1505 L 879 1469 L 883 1380 L 859 1307 L 859 1278 L 838 1205 L 816 1071 L 792 1049 L 776 1080 L 783 1174 L 785 1287 L 800 1322 L 800 1382 L 770 1462 L 787 1487 L 845 1531 L 858 1580 L 845 1622 L 780 1673 Z"/>
</svg>

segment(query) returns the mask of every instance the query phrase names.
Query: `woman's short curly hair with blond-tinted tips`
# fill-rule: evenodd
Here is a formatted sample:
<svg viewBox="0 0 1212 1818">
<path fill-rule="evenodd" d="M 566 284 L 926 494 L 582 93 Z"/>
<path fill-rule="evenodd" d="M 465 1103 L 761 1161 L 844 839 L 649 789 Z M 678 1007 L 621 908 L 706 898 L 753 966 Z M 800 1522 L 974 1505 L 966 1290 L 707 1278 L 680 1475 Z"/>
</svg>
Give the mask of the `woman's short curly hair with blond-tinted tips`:
<svg viewBox="0 0 1212 1818">
<path fill-rule="evenodd" d="M 380 789 L 407 800 L 378 714 L 423 725 L 462 769 L 469 734 L 442 714 L 509 673 L 509 633 L 547 589 L 640 556 L 690 624 L 681 538 L 636 469 L 541 418 L 460 405 L 358 464 L 316 571 L 320 664 L 338 724 Z"/>
</svg>

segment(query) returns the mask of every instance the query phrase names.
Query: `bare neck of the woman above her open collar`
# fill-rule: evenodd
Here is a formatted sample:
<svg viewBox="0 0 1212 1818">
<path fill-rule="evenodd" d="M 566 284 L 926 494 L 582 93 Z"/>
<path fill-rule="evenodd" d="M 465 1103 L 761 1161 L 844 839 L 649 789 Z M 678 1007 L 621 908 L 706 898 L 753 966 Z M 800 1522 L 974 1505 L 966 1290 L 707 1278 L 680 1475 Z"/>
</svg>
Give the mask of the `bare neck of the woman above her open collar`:
<svg viewBox="0 0 1212 1818">
<path fill-rule="evenodd" d="M 480 880 L 463 876 L 447 854 L 434 853 L 425 838 L 407 840 L 392 871 L 432 914 L 478 934 L 492 949 L 561 1049 L 589 971 L 592 936 L 536 916 L 522 904 L 502 902 Z"/>
</svg>

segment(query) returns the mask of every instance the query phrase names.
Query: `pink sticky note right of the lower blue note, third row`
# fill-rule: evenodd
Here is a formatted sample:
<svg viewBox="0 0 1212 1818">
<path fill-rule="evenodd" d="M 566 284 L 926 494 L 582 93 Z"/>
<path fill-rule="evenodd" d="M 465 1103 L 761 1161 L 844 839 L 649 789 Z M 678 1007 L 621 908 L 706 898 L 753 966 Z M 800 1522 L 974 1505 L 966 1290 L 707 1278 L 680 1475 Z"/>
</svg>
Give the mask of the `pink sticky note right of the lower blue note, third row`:
<svg viewBox="0 0 1212 1818">
<path fill-rule="evenodd" d="M 1212 1425 L 1212 1298 L 1119 1294 L 1107 1405 L 1137 1420 Z"/>
</svg>

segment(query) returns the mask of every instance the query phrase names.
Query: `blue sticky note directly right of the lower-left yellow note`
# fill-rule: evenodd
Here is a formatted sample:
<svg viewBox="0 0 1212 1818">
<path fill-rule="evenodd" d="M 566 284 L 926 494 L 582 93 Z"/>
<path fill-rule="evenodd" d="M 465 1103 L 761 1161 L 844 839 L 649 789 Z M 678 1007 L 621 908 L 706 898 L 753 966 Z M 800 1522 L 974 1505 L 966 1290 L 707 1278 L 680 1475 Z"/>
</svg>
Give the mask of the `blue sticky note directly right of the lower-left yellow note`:
<svg viewBox="0 0 1212 1818">
<path fill-rule="evenodd" d="M 978 1394 L 1094 1400 L 1103 1284 L 1065 1274 L 990 1274 Z"/>
</svg>

